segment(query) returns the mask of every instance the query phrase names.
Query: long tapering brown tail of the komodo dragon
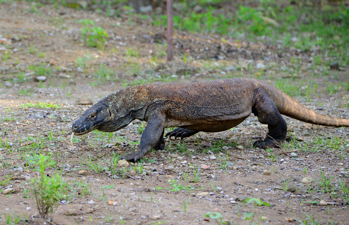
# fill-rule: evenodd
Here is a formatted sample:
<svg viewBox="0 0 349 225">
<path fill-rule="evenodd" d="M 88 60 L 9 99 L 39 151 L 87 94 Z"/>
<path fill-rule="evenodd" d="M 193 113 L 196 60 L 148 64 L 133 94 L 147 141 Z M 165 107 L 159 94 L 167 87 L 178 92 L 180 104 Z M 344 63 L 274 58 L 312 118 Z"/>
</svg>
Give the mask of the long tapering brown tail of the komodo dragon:
<svg viewBox="0 0 349 225">
<path fill-rule="evenodd" d="M 264 91 L 275 102 L 279 112 L 285 116 L 323 126 L 349 126 L 348 119 L 333 118 L 319 114 L 314 110 L 302 106 L 279 88 L 263 81 L 260 84 L 263 86 Z"/>
</svg>

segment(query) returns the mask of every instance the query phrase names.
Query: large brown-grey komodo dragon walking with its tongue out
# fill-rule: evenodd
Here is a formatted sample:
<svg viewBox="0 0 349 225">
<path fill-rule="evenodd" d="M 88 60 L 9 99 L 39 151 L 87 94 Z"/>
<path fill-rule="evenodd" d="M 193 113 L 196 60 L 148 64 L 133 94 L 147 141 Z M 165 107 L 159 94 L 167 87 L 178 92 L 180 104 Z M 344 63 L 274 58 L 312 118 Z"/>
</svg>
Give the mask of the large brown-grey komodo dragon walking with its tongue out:
<svg viewBox="0 0 349 225">
<path fill-rule="evenodd" d="M 285 141 L 287 125 L 281 114 L 312 124 L 349 126 L 348 119 L 318 114 L 265 81 L 233 78 L 121 89 L 87 109 L 72 130 L 76 135 L 95 129 L 112 132 L 134 119 L 146 121 L 138 151 L 122 157 L 136 161 L 152 148 L 164 149 L 164 128 L 178 127 L 166 136 L 181 138 L 199 131 L 220 132 L 237 126 L 251 113 L 260 123 L 268 124 L 266 138 L 253 143 L 261 148 L 280 146 Z"/>
</svg>

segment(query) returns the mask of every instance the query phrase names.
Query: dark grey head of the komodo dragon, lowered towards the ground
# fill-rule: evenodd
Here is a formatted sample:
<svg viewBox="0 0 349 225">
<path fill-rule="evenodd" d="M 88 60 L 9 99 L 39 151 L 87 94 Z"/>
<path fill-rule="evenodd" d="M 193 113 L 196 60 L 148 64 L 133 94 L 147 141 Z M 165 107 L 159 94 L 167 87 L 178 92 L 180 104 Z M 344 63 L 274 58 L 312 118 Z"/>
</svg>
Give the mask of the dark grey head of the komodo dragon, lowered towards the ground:
<svg viewBox="0 0 349 225">
<path fill-rule="evenodd" d="M 72 125 L 75 135 L 83 135 L 92 130 L 114 131 L 111 111 L 104 101 L 99 101 L 87 109 Z"/>
</svg>

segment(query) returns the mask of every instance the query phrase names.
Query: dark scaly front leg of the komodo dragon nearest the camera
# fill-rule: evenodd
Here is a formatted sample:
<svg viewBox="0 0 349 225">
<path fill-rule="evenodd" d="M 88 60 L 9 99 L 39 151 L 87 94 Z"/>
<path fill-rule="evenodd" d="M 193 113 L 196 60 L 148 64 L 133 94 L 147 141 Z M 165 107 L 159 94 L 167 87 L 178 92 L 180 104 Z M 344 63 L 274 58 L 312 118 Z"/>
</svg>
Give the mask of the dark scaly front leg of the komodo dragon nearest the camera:
<svg viewBox="0 0 349 225">
<path fill-rule="evenodd" d="M 163 122 L 164 116 L 162 115 L 149 116 L 148 125 L 143 131 L 138 150 L 132 154 L 123 155 L 121 159 L 126 159 L 127 161 L 137 161 L 147 154 L 151 148 L 154 148 L 164 134 Z"/>
</svg>

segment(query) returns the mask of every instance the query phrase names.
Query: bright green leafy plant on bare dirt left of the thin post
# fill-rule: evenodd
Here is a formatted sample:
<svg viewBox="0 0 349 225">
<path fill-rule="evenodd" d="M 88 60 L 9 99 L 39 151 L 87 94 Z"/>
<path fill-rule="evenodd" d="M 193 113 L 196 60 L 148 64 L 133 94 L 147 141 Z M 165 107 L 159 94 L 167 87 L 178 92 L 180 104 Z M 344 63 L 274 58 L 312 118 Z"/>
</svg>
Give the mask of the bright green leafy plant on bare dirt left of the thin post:
<svg viewBox="0 0 349 225">
<path fill-rule="evenodd" d="M 102 48 L 108 37 L 107 32 L 102 27 L 96 27 L 95 22 L 85 19 L 79 20 L 84 28 L 81 29 L 82 39 L 88 46 Z"/>
</svg>

